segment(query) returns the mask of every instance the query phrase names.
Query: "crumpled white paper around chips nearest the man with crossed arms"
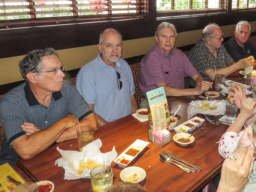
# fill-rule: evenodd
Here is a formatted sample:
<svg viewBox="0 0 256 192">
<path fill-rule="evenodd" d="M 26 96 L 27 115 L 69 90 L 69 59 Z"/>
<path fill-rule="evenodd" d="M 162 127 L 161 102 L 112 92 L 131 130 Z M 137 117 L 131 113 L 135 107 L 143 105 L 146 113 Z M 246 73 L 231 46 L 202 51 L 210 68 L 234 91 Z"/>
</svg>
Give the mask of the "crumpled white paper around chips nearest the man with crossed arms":
<svg viewBox="0 0 256 192">
<path fill-rule="evenodd" d="M 90 172 L 92 169 L 85 167 L 82 174 L 77 173 L 79 169 L 80 162 L 86 162 L 87 159 L 92 159 L 94 163 L 101 163 L 105 160 L 105 165 L 110 165 L 112 161 L 117 157 L 117 152 L 115 146 L 112 151 L 107 153 L 101 153 L 100 148 L 102 147 L 102 142 L 100 139 L 94 140 L 91 143 L 83 147 L 82 151 L 64 151 L 57 147 L 60 152 L 60 157 L 55 161 L 55 165 L 58 167 L 63 167 L 65 169 L 65 177 L 67 180 L 75 180 L 80 178 L 90 177 Z"/>
</svg>

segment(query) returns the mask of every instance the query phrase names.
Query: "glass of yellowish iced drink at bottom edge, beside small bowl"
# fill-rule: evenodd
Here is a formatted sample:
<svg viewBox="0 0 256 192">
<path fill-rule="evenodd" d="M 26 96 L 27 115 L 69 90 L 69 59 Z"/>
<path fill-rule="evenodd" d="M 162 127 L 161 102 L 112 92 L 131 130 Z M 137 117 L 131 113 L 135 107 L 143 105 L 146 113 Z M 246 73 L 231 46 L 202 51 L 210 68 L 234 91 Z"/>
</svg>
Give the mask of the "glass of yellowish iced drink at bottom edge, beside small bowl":
<svg viewBox="0 0 256 192">
<path fill-rule="evenodd" d="M 113 183 L 113 169 L 107 165 L 93 168 L 91 182 L 93 192 L 107 191 Z"/>
</svg>

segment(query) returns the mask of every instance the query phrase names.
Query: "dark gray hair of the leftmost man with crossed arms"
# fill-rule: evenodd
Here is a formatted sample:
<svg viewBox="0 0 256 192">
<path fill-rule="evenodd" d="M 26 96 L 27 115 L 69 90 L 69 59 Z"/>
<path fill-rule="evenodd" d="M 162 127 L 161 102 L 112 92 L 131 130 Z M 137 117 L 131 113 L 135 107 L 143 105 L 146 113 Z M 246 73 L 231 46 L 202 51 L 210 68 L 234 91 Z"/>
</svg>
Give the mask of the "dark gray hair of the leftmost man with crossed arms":
<svg viewBox="0 0 256 192">
<path fill-rule="evenodd" d="M 36 49 L 29 52 L 28 55 L 26 55 L 24 59 L 20 61 L 20 73 L 27 83 L 29 82 L 28 78 L 26 77 L 27 73 L 42 70 L 42 68 L 44 68 L 42 65 L 42 57 L 51 55 L 58 56 L 58 53 L 55 52 L 53 48 Z"/>
</svg>

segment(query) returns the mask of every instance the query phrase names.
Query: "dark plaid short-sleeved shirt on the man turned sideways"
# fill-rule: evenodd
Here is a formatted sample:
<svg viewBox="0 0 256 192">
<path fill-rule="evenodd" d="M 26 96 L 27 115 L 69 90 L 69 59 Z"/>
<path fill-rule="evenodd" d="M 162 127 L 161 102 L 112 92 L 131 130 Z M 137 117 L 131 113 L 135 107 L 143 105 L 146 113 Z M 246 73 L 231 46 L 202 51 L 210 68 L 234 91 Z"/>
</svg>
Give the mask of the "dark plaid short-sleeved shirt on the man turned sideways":
<svg viewBox="0 0 256 192">
<path fill-rule="evenodd" d="M 217 58 L 210 52 L 202 39 L 200 39 L 188 54 L 188 59 L 196 68 L 198 73 L 204 77 L 205 81 L 211 80 L 202 74 L 203 71 L 214 69 L 214 66 L 215 69 L 218 70 L 235 63 L 223 45 L 220 45 L 220 47 L 216 49 L 216 52 Z M 193 79 L 189 78 L 188 82 L 190 86 L 196 87 L 196 83 Z"/>
</svg>

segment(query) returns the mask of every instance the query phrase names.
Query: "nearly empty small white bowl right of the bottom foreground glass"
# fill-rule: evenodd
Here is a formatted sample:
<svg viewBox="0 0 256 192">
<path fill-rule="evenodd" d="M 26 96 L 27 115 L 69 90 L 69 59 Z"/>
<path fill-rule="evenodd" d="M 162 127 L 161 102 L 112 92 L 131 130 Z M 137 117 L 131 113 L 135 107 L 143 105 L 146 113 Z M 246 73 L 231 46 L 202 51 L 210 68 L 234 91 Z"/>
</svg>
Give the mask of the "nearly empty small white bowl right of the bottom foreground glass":
<svg viewBox="0 0 256 192">
<path fill-rule="evenodd" d="M 129 176 L 132 176 L 134 173 L 137 174 L 137 176 L 135 177 L 136 181 L 126 180 Z M 132 182 L 132 183 L 138 183 L 138 182 L 144 180 L 146 175 L 147 174 L 146 174 L 146 171 L 144 169 L 142 169 L 141 167 L 135 167 L 135 166 L 126 167 L 120 172 L 121 180 L 123 180 L 125 182 Z"/>
</svg>

